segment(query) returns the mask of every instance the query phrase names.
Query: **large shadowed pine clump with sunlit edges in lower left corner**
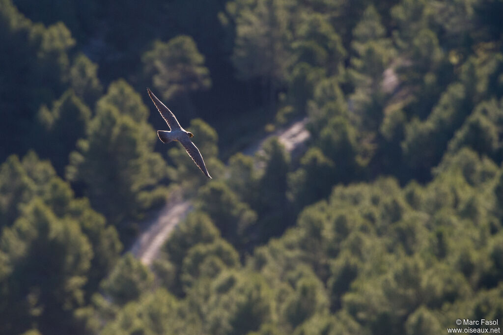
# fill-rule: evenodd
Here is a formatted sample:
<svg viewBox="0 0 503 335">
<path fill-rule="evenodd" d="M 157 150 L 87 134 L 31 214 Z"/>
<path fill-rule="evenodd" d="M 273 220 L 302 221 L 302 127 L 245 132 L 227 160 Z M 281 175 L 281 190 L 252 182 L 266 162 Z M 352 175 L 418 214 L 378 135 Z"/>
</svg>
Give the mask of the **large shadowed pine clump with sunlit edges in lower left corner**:
<svg viewBox="0 0 503 335">
<path fill-rule="evenodd" d="M 73 313 L 117 261 L 117 231 L 33 151 L 10 156 L 0 171 L 0 315 L 10 320 L 1 331 L 79 333 Z"/>
</svg>

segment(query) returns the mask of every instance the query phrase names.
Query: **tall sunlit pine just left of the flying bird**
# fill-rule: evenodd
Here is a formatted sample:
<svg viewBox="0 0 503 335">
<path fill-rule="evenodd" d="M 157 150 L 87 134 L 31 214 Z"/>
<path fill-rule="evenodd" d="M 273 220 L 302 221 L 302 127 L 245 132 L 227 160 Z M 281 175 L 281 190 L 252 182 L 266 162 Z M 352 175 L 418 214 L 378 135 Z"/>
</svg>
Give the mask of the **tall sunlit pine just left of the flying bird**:
<svg viewBox="0 0 503 335">
<path fill-rule="evenodd" d="M 165 198 L 158 182 L 166 163 L 153 151 L 156 133 L 147 108 L 125 80 L 112 83 L 96 104 L 86 137 L 70 154 L 66 177 L 83 188 L 91 204 L 127 235 L 126 219 Z"/>
</svg>

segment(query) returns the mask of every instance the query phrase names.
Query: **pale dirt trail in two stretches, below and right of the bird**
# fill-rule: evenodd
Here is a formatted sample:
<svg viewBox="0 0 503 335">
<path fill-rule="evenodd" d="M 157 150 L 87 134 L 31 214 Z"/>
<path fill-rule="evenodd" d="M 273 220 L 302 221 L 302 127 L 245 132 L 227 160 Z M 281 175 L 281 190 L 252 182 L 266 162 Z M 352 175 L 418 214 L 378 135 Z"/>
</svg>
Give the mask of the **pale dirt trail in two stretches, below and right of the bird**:
<svg viewBox="0 0 503 335">
<path fill-rule="evenodd" d="M 250 145 L 242 152 L 247 155 L 253 155 L 261 148 L 264 141 L 272 136 L 278 136 L 287 151 L 295 151 L 309 138 L 309 132 L 305 128 L 306 123 L 307 118 L 294 122 L 288 128 L 277 130 L 266 138 Z M 170 233 L 179 222 L 185 219 L 191 210 L 191 200 L 178 200 L 166 203 L 153 217 L 140 224 L 141 227 L 146 228 L 140 233 L 138 239 L 129 249 L 129 252 L 144 265 L 150 266 L 159 255 L 160 248 Z"/>
</svg>

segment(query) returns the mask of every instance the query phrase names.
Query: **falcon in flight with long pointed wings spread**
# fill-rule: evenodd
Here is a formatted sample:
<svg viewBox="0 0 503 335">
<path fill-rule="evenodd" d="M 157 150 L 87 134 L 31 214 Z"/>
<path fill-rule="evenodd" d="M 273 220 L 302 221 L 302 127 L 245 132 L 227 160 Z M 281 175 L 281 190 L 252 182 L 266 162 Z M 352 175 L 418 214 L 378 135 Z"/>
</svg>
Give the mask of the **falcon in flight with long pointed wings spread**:
<svg viewBox="0 0 503 335">
<path fill-rule="evenodd" d="M 149 88 L 147 88 L 147 92 L 150 99 L 152 99 L 155 107 L 157 107 L 160 115 L 171 129 L 171 131 L 157 130 L 157 136 L 159 136 L 159 139 L 162 141 L 162 143 L 170 143 L 172 141 L 179 141 L 180 143 L 182 143 L 185 151 L 187 151 L 187 153 L 192 158 L 192 160 L 194 160 L 199 169 L 201 169 L 206 177 L 212 179 L 210 174 L 208 173 L 208 170 L 206 170 L 206 165 L 204 164 L 204 159 L 201 155 L 201 152 L 199 152 L 197 146 L 190 140 L 191 137 L 194 137 L 194 134 L 190 131 L 186 131 L 184 128 L 182 128 L 182 126 L 180 126 L 180 123 L 178 122 L 175 115 L 169 110 L 169 108 L 164 106 L 164 104 L 161 103 L 159 99 L 157 99 L 157 97 L 152 93 L 152 91 L 150 91 Z"/>
</svg>

